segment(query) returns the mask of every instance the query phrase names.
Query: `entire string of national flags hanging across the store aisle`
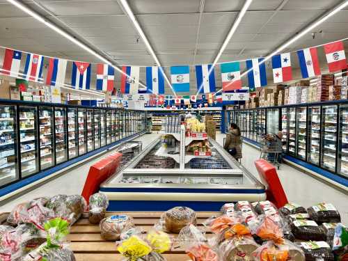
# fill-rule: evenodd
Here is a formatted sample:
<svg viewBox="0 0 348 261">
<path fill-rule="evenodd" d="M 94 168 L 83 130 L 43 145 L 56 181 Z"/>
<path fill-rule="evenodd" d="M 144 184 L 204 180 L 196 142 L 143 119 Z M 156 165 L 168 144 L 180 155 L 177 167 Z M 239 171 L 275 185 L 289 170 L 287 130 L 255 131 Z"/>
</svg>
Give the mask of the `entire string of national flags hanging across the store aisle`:
<svg viewBox="0 0 348 261">
<path fill-rule="evenodd" d="M 347 39 L 344 39 L 347 40 Z M 328 63 L 329 72 L 347 69 L 345 47 L 343 40 L 330 42 L 324 45 L 324 53 Z M 296 51 L 303 78 L 315 77 L 321 74 L 317 47 L 310 47 Z M 1 47 L 5 48 L 5 47 Z M 93 64 L 80 61 L 68 61 L 62 58 L 46 57 L 38 54 L 26 53 L 24 72 L 21 68 L 24 52 L 5 48 L 1 74 L 19 77 L 29 81 L 44 83 L 49 86 L 65 85 L 65 74 L 68 63 L 72 63 L 71 86 L 75 89 L 90 90 L 92 66 L 96 66 L 96 90 L 111 92 L 117 95 L 115 70 L 106 64 Z M 48 68 L 44 77 L 44 60 L 48 59 Z M 244 60 L 248 70 L 248 87 L 252 92 L 257 87 L 267 86 L 266 65 L 264 58 L 251 58 Z M 242 61 L 220 63 L 221 82 L 223 93 L 242 89 L 240 65 Z M 292 80 L 291 53 L 277 54 L 271 58 L 271 67 L 274 83 Z M 146 67 L 146 86 L 140 84 L 140 66 L 122 66 L 120 92 L 122 94 L 136 95 L 141 93 L 164 95 L 164 69 L 157 66 Z M 196 81 L 198 93 L 209 94 L 216 91 L 215 73 L 212 65 L 196 65 Z M 190 67 L 171 66 L 171 84 L 175 93 L 188 93 L 190 91 Z M 209 98 L 209 97 L 208 97 Z M 191 97 L 185 98 L 191 100 Z M 209 103 L 209 99 L 208 99 Z"/>
</svg>

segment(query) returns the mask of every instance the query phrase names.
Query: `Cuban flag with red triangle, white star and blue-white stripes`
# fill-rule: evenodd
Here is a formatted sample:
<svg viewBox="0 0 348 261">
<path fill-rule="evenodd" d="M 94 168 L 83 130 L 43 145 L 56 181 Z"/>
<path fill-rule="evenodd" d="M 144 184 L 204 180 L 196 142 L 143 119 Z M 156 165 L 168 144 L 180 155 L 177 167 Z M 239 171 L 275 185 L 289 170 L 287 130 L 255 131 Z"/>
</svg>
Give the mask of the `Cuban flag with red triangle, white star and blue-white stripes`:
<svg viewBox="0 0 348 261">
<path fill-rule="evenodd" d="M 73 62 L 71 85 L 75 89 L 89 90 L 90 88 L 90 63 Z"/>
</svg>

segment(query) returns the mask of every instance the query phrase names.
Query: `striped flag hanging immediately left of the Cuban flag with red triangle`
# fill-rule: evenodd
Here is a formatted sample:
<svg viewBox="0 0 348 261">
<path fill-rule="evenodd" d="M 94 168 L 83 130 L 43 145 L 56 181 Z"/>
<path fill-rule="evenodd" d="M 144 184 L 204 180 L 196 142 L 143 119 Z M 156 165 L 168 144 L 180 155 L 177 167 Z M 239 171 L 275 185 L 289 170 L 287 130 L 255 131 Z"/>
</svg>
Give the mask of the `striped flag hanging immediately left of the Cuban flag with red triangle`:
<svg viewBox="0 0 348 261">
<path fill-rule="evenodd" d="M 49 58 L 46 84 L 50 86 L 62 86 L 65 81 L 66 65 L 68 61 L 59 58 Z"/>
</svg>

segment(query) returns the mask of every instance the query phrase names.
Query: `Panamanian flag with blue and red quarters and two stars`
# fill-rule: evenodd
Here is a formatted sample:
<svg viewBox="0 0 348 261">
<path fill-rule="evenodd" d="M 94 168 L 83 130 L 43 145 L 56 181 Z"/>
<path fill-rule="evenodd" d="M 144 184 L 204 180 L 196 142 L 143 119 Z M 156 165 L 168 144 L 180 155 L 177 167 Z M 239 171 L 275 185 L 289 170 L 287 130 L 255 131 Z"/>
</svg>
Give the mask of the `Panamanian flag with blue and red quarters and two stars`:
<svg viewBox="0 0 348 261">
<path fill-rule="evenodd" d="M 292 80 L 292 68 L 290 53 L 272 56 L 272 68 L 274 83 Z"/>
</svg>

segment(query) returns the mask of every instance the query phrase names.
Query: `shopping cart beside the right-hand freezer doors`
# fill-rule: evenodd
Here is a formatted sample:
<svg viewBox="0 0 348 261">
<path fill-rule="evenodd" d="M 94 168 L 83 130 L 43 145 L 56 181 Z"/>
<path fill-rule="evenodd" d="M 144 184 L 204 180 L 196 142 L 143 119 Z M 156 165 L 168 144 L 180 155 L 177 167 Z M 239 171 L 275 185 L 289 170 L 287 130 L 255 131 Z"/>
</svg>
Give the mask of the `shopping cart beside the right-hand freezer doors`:
<svg viewBox="0 0 348 261">
<path fill-rule="evenodd" d="M 275 135 L 261 135 L 260 136 L 261 153 L 260 159 L 267 161 L 280 168 L 279 157 L 283 153 L 283 143 Z"/>
</svg>

